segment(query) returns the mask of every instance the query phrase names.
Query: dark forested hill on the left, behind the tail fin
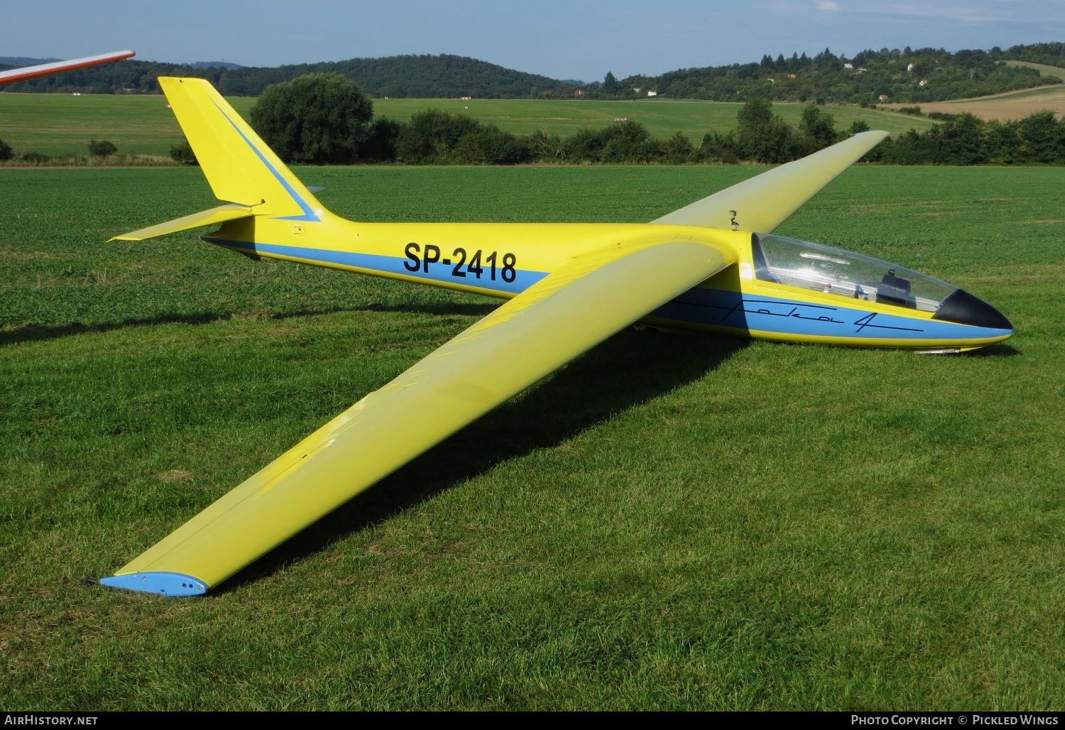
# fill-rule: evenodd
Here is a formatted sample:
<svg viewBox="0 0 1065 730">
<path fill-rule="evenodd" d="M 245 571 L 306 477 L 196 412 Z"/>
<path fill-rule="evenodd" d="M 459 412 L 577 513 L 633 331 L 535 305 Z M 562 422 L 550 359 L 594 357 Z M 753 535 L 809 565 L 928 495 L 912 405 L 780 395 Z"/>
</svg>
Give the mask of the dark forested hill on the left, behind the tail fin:
<svg viewBox="0 0 1065 730">
<path fill-rule="evenodd" d="M 154 61 L 124 61 L 7 86 L 12 92 L 158 94 L 159 76 L 206 78 L 228 96 L 259 96 L 272 83 L 312 72 L 339 72 L 375 97 L 539 98 L 544 92 L 573 96 L 574 85 L 459 55 L 393 55 L 291 66 L 199 68 Z"/>
</svg>

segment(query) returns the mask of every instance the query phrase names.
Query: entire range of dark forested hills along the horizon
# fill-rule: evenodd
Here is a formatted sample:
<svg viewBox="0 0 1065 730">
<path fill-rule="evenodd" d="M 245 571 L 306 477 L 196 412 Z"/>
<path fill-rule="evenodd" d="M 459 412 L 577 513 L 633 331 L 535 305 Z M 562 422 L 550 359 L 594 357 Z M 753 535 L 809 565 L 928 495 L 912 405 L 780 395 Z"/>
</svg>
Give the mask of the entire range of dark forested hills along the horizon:
<svg viewBox="0 0 1065 730">
<path fill-rule="evenodd" d="M 920 103 L 1060 83 L 1041 76 L 1035 68 L 1013 62 L 1065 68 L 1065 44 L 1042 43 L 995 47 L 988 51 L 905 48 L 866 50 L 852 58 L 828 48 L 808 56 L 766 54 L 757 63 L 684 68 L 660 76 L 635 76 L 618 80 L 606 74 L 603 81 L 583 86 L 588 98 L 659 97 L 746 101 L 835 101 Z M 207 78 L 223 94 L 258 96 L 278 81 L 302 74 L 335 71 L 356 81 L 375 97 L 528 99 L 542 96 L 571 98 L 573 82 L 515 71 L 503 66 L 458 55 L 395 55 L 384 59 L 351 59 L 331 63 L 292 66 L 201 68 L 152 61 L 122 61 L 55 76 L 40 77 L 5 88 L 11 92 L 89 92 L 97 94 L 159 93 L 158 76 Z"/>
</svg>

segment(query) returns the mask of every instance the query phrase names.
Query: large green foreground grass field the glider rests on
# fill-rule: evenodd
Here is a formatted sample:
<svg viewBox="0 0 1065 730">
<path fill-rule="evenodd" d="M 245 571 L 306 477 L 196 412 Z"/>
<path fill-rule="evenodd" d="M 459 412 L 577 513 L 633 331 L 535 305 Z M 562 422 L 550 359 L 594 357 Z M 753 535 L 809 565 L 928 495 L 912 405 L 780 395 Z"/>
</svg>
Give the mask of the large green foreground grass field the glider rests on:
<svg viewBox="0 0 1065 730">
<path fill-rule="evenodd" d="M 299 171 L 393 221 L 649 221 L 755 172 Z M 1061 710 L 1063 198 L 1061 167 L 848 171 L 781 232 L 960 285 L 1016 336 L 626 330 L 167 601 L 81 579 L 493 305 L 105 243 L 215 205 L 196 169 L 0 171 L 0 707 Z"/>
</svg>

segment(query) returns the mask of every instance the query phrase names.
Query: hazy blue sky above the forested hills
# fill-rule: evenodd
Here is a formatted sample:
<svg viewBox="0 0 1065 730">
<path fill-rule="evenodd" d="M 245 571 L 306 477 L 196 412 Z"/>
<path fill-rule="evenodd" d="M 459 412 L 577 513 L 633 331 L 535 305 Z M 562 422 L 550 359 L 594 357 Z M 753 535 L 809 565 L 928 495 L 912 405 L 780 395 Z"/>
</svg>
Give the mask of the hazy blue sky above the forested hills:
<svg viewBox="0 0 1065 730">
<path fill-rule="evenodd" d="M 454 53 L 560 79 L 658 75 L 866 48 L 1065 40 L 1065 0 L 33 0 L 10 2 L 0 55 L 131 49 L 146 61 L 278 66 Z"/>
</svg>

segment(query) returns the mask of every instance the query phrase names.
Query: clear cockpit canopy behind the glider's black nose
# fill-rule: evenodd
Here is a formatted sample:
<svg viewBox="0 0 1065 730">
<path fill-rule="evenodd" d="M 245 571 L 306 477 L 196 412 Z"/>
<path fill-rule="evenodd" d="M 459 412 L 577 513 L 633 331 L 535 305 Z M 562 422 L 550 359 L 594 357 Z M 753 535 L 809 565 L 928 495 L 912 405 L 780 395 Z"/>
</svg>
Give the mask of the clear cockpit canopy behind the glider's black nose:
<svg viewBox="0 0 1065 730">
<path fill-rule="evenodd" d="M 754 233 L 751 253 L 754 275 L 763 281 L 853 299 L 934 312 L 957 291 L 912 269 L 783 236 Z"/>
</svg>

